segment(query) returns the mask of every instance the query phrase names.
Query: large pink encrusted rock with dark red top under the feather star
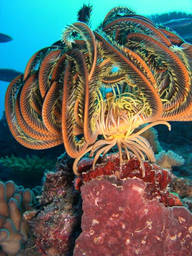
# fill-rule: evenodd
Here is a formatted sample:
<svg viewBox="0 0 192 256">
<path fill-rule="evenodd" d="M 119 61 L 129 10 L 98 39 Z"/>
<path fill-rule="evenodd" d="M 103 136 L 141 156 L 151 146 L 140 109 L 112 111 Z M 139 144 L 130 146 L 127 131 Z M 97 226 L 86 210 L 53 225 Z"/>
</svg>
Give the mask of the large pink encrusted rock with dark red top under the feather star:
<svg viewBox="0 0 192 256">
<path fill-rule="evenodd" d="M 131 159 L 119 179 L 117 155 L 107 158 L 82 175 L 82 232 L 74 256 L 191 255 L 192 215 L 167 194 L 168 171 L 145 162 L 142 177 L 138 160 Z"/>
</svg>

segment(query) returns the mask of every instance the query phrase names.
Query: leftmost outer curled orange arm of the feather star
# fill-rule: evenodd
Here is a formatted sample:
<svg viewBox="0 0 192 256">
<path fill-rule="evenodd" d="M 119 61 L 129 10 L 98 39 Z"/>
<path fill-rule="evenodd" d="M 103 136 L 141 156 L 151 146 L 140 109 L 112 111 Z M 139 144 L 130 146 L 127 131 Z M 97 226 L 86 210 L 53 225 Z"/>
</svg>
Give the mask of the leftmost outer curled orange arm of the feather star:
<svg viewBox="0 0 192 256">
<path fill-rule="evenodd" d="M 22 112 L 20 111 L 20 94 L 23 88 L 23 75 L 13 79 L 10 83 L 5 98 L 5 112 L 10 131 L 14 138 L 22 145 L 41 150 L 49 148 L 62 143 L 60 136 L 55 136 L 51 133 L 44 133 L 36 131 L 31 123 L 27 122 Z"/>
</svg>

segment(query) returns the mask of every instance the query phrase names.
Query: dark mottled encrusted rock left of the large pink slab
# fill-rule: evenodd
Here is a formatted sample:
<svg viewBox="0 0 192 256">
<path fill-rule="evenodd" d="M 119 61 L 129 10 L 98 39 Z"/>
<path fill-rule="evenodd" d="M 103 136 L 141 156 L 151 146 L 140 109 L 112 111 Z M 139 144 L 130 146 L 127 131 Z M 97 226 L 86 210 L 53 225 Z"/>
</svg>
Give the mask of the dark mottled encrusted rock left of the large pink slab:
<svg viewBox="0 0 192 256">
<path fill-rule="evenodd" d="M 79 234 L 79 193 L 74 192 L 72 172 L 58 166 L 49 172 L 40 198 L 41 208 L 25 215 L 33 226 L 35 247 L 41 256 L 70 256 Z M 35 216 L 36 215 L 36 216 Z"/>
</svg>

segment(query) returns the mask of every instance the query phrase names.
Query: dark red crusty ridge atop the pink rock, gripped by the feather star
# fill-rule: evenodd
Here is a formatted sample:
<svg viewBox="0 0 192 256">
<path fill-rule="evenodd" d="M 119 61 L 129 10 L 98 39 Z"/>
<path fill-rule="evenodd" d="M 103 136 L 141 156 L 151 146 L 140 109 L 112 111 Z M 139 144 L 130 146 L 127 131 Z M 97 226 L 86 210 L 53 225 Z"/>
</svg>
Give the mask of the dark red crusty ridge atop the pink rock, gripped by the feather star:
<svg viewBox="0 0 192 256">
<path fill-rule="evenodd" d="M 126 157 L 123 154 L 124 158 Z M 89 161 L 88 161 L 89 165 Z M 98 164 L 95 170 L 91 168 L 84 173 L 85 162 L 79 162 L 78 170 L 83 172 L 81 177 L 76 178 L 75 188 L 80 190 L 83 183 L 87 183 L 95 178 L 105 176 L 114 176 L 117 180 L 126 178 L 139 178 L 146 183 L 146 191 L 152 197 L 158 198 L 165 206 L 182 205 L 178 197 L 170 194 L 168 186 L 171 181 L 170 173 L 166 169 L 162 169 L 156 164 L 143 162 L 140 164 L 139 160 L 132 157 L 122 166 L 122 173 L 119 176 L 119 154 L 110 154 L 103 159 L 101 164 Z"/>
</svg>

